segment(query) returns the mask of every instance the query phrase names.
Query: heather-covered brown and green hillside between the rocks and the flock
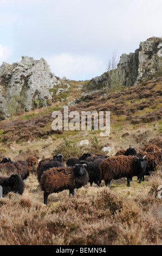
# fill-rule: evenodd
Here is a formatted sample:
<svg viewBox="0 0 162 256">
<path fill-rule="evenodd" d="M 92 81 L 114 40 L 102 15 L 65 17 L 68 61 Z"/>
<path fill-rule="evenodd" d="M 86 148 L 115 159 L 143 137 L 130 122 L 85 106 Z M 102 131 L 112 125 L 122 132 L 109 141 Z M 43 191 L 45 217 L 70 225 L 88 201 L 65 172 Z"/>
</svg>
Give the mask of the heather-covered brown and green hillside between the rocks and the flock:
<svg viewBox="0 0 162 256">
<path fill-rule="evenodd" d="M 63 106 L 69 107 L 70 111 L 110 111 L 111 133 L 108 137 L 100 137 L 103 145 L 112 148 L 112 154 L 121 148 L 134 145 L 138 150 L 144 149 L 148 144 L 157 144 L 161 148 L 161 115 L 162 101 L 161 88 L 162 78 L 146 80 L 132 88 L 125 88 L 119 92 L 107 94 L 106 89 L 97 93 L 86 91 L 87 83 L 82 82 L 83 87 L 77 90 L 80 82 L 68 81 L 73 85 L 73 90 L 67 91 L 69 102 L 73 102 L 74 95 L 77 95 L 76 102 L 72 105 L 59 102 L 44 108 L 37 108 L 34 111 L 15 115 L 11 120 L 1 121 L 1 154 L 30 149 L 38 150 L 40 157 L 46 154 L 44 147 L 48 145 L 48 154 L 57 147 L 57 143 L 68 138 L 72 143 L 78 143 L 85 138 L 89 141 L 100 131 L 53 131 L 51 123 L 53 111 L 59 109 L 63 112 Z M 84 94 L 84 93 L 83 93 Z M 89 146 L 90 147 L 90 146 Z"/>
</svg>

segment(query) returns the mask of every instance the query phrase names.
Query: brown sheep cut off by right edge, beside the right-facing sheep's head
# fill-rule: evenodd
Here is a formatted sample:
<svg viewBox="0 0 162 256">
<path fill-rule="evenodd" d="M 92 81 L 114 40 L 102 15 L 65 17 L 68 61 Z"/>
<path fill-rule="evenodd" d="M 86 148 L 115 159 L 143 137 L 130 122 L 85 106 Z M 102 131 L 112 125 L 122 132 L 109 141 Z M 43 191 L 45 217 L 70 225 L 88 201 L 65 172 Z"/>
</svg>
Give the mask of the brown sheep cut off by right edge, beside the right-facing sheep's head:
<svg viewBox="0 0 162 256">
<path fill-rule="evenodd" d="M 157 152 L 152 152 L 152 153 L 147 153 L 147 152 L 141 152 L 138 153 L 137 156 L 138 157 L 142 157 L 146 155 L 146 161 L 147 161 L 147 167 L 145 170 L 145 173 L 142 176 L 138 176 L 139 179 L 139 183 L 141 181 L 144 181 L 145 175 L 150 175 L 151 172 L 154 171 L 156 166 L 162 166 L 162 152 L 161 151 L 157 151 Z"/>
</svg>

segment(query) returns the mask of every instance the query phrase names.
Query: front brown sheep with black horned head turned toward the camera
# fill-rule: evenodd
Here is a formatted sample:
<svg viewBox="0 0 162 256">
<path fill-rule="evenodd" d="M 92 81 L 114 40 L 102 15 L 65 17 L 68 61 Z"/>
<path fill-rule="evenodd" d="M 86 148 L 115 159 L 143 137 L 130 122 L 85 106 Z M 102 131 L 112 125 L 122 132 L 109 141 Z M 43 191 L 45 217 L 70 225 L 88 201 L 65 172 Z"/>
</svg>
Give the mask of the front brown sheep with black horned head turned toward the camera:
<svg viewBox="0 0 162 256">
<path fill-rule="evenodd" d="M 83 164 L 74 167 L 50 168 L 41 176 L 41 189 L 44 192 L 44 204 L 47 204 L 49 194 L 69 190 L 74 196 L 74 189 L 87 185 L 89 180 L 87 170 Z"/>
</svg>

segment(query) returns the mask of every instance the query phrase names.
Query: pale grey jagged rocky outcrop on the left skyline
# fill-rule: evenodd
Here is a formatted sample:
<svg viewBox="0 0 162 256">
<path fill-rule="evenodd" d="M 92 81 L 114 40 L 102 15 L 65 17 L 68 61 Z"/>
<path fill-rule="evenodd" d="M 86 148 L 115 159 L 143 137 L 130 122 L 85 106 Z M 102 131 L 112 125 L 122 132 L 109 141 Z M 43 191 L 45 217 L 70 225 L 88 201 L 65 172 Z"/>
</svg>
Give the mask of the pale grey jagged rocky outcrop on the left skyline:
<svg viewBox="0 0 162 256">
<path fill-rule="evenodd" d="M 46 60 L 35 60 L 22 56 L 20 62 L 12 65 L 3 62 L 0 67 L 0 113 L 9 113 L 12 99 L 15 104 L 23 102 L 26 111 L 30 111 L 38 102 L 47 106 L 52 99 L 52 89 L 60 84 Z"/>
</svg>

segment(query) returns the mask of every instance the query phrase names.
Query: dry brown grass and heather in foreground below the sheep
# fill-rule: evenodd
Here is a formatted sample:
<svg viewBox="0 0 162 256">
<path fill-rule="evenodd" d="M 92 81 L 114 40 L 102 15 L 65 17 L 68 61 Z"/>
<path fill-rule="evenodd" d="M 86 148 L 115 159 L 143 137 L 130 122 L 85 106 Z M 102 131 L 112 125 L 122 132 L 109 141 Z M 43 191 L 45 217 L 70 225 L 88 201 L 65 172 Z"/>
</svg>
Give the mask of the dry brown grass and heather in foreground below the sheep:
<svg viewBox="0 0 162 256">
<path fill-rule="evenodd" d="M 32 173 L 22 196 L 0 199 L 0 245 L 162 245 L 162 199 L 152 192 L 159 175 L 51 194 L 46 206 Z"/>
</svg>

